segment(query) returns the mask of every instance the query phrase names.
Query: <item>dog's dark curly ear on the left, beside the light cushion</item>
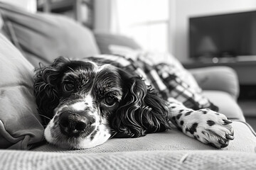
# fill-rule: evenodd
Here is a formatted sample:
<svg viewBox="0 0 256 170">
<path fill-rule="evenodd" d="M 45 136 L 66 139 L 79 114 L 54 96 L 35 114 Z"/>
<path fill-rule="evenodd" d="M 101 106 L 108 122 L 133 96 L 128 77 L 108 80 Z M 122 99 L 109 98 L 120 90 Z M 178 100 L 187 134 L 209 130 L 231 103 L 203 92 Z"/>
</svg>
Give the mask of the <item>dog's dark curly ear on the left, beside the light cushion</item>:
<svg viewBox="0 0 256 170">
<path fill-rule="evenodd" d="M 58 82 L 60 81 L 60 68 L 69 60 L 58 57 L 53 64 L 36 70 L 34 82 L 34 94 L 38 112 L 43 123 L 48 124 L 49 118 L 53 118 L 53 110 L 59 103 Z"/>
</svg>

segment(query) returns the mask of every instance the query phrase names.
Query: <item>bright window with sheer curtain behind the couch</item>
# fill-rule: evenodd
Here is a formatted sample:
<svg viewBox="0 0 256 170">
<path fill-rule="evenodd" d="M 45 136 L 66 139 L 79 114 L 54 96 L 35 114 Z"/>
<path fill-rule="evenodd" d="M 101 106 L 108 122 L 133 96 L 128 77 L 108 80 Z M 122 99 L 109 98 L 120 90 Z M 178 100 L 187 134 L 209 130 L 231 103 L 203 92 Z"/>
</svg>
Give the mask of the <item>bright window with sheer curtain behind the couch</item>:
<svg viewBox="0 0 256 170">
<path fill-rule="evenodd" d="M 109 1 L 111 33 L 132 37 L 145 50 L 169 51 L 169 0 Z"/>
</svg>

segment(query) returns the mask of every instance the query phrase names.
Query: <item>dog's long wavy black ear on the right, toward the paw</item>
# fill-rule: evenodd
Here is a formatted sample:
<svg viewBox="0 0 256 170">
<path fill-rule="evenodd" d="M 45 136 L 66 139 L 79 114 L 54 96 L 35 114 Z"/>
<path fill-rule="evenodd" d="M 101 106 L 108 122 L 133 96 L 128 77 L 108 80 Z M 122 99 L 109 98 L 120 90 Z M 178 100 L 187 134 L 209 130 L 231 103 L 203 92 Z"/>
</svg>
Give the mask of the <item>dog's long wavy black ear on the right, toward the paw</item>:
<svg viewBox="0 0 256 170">
<path fill-rule="evenodd" d="M 165 102 L 140 77 L 119 71 L 123 98 L 110 117 L 114 137 L 141 137 L 169 128 Z"/>
</svg>

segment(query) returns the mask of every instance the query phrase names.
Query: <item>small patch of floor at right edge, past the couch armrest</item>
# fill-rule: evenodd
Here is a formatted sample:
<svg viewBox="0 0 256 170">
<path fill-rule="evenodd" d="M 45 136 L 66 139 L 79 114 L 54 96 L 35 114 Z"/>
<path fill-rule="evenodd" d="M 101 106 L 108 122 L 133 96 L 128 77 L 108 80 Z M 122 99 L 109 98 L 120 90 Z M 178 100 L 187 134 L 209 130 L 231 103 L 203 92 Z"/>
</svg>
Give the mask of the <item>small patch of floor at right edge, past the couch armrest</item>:
<svg viewBox="0 0 256 170">
<path fill-rule="evenodd" d="M 256 131 L 256 100 L 238 101 L 247 123 Z"/>
</svg>

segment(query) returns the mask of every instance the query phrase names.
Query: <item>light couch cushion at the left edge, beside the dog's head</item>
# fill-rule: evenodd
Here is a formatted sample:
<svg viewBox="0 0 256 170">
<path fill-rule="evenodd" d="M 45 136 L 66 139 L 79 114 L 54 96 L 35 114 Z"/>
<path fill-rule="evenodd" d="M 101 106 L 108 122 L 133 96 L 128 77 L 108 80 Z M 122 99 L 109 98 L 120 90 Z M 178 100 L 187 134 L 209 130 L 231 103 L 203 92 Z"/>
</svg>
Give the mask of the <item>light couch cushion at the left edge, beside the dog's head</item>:
<svg viewBox="0 0 256 170">
<path fill-rule="evenodd" d="M 43 139 L 33 96 L 33 66 L 0 34 L 0 148 L 27 149 Z"/>
</svg>

